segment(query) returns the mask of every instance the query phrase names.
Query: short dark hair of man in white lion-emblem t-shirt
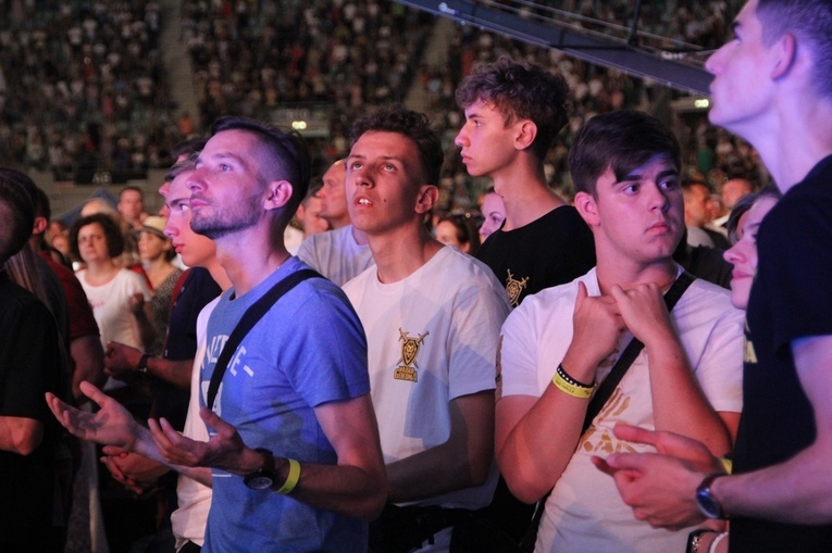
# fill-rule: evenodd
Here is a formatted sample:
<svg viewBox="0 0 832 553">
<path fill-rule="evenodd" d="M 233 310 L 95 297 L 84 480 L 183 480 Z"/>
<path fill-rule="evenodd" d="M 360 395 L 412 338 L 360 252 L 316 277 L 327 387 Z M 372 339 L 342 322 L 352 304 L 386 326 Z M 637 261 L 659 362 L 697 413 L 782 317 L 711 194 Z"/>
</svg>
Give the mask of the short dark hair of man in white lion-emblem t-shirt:
<svg viewBox="0 0 832 553">
<path fill-rule="evenodd" d="M 439 135 L 431 128 L 427 115 L 408 110 L 401 104 L 380 108 L 357 120 L 350 129 L 349 147 L 352 148 L 364 133 L 396 133 L 409 138 L 419 151 L 419 161 L 426 184 L 439 186 L 445 152 Z"/>
</svg>

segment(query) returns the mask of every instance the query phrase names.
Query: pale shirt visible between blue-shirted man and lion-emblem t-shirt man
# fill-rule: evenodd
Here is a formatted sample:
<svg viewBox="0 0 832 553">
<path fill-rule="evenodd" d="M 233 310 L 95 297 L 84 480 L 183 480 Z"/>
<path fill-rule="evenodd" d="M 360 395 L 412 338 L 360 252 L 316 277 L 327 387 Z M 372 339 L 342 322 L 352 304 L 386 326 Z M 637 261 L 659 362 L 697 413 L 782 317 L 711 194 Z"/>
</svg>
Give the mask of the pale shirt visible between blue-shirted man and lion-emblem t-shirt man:
<svg viewBox="0 0 832 553">
<path fill-rule="evenodd" d="M 298 257 L 338 286 L 375 265 L 370 247 L 352 236 L 352 225 L 308 237 Z"/>
</svg>

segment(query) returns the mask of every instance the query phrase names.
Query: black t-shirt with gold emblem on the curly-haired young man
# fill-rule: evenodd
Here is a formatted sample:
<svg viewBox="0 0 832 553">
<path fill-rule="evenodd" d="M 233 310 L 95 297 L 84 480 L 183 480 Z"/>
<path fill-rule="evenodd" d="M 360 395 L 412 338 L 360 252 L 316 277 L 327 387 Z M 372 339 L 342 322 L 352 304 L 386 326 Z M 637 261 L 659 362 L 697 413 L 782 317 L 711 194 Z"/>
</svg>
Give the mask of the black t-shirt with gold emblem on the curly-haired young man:
<svg viewBox="0 0 832 553">
<path fill-rule="evenodd" d="M 595 240 L 578 210 L 556 208 L 513 230 L 497 230 L 476 251 L 506 287 L 509 301 L 571 282 L 595 266 Z"/>
</svg>

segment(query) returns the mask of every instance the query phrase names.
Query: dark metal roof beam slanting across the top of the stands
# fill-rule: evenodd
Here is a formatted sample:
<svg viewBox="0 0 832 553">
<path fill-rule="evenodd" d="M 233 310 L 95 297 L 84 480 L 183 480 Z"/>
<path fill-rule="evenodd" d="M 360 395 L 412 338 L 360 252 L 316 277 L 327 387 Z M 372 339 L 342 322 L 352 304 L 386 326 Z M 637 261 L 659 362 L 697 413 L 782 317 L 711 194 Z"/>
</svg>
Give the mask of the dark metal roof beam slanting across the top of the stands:
<svg viewBox="0 0 832 553">
<path fill-rule="evenodd" d="M 470 0 L 397 0 L 399 3 L 448 17 L 458 23 L 561 50 L 596 65 L 614 67 L 633 76 L 650 78 L 659 84 L 695 95 L 708 96 L 711 76 L 701 67 L 666 59 L 635 45 L 633 37 L 617 40 L 556 20 L 541 23 L 532 17 L 494 9 L 496 2 Z"/>
</svg>

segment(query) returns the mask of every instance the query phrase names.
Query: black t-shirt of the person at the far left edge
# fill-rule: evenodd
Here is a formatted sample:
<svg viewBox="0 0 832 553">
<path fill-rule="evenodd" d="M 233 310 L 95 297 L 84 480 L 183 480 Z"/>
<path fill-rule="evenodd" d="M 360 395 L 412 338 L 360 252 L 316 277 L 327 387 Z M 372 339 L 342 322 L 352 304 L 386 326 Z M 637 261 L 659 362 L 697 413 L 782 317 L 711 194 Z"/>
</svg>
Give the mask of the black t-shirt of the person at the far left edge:
<svg viewBox="0 0 832 553">
<path fill-rule="evenodd" d="M 52 523 L 57 422 L 44 394 L 59 384 L 58 328 L 34 294 L 0 271 L 0 416 L 33 418 L 44 438 L 26 456 L 0 451 L 0 551 L 46 551 Z"/>
</svg>

